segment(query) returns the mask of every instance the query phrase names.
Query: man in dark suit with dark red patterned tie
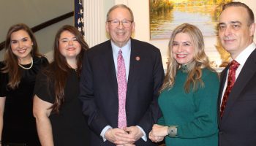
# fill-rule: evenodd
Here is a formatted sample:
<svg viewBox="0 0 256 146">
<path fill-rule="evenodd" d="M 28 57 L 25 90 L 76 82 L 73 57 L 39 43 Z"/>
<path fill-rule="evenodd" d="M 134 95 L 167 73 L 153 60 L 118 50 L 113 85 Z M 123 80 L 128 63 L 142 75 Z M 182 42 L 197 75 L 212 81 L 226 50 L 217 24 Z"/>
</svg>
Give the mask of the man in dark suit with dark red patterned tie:
<svg viewBox="0 0 256 146">
<path fill-rule="evenodd" d="M 218 102 L 219 146 L 256 145 L 254 34 L 255 19 L 252 9 L 241 2 L 225 4 L 219 16 L 219 39 L 233 61 L 221 74 Z"/>
</svg>

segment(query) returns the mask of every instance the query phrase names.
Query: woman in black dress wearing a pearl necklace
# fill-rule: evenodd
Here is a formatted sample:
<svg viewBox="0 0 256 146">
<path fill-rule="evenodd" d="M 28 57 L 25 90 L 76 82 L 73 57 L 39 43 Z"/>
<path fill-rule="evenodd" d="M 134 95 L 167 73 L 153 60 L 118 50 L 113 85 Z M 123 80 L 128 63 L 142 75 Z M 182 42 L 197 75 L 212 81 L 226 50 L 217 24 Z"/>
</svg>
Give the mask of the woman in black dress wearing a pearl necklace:
<svg viewBox="0 0 256 146">
<path fill-rule="evenodd" d="M 37 72 L 48 65 L 38 53 L 34 34 L 25 24 L 11 26 L 0 62 L 0 137 L 2 143 L 39 145 L 32 114 Z"/>
</svg>

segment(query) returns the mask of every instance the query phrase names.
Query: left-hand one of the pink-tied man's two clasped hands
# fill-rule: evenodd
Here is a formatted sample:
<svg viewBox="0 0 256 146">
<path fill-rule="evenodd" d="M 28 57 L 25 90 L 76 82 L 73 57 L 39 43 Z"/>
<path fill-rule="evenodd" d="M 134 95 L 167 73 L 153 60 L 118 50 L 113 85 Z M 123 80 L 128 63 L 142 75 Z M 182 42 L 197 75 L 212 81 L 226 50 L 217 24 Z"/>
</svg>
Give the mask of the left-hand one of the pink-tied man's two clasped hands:
<svg viewBox="0 0 256 146">
<path fill-rule="evenodd" d="M 116 145 L 126 145 L 135 142 L 135 139 L 121 128 L 109 128 L 105 133 L 105 139 Z"/>
</svg>

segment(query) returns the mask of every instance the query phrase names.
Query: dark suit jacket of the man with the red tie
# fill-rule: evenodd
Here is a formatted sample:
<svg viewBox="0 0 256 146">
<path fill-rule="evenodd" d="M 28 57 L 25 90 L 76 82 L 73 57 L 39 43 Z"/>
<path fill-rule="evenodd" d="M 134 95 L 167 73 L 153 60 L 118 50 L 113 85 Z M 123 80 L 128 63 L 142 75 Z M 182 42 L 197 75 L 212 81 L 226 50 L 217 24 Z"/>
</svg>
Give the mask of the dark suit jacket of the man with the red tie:
<svg viewBox="0 0 256 146">
<path fill-rule="evenodd" d="M 218 107 L 222 91 L 225 91 L 223 87 L 228 67 L 221 74 Z M 241 69 L 218 124 L 219 146 L 256 145 L 256 50 L 249 55 Z"/>
</svg>

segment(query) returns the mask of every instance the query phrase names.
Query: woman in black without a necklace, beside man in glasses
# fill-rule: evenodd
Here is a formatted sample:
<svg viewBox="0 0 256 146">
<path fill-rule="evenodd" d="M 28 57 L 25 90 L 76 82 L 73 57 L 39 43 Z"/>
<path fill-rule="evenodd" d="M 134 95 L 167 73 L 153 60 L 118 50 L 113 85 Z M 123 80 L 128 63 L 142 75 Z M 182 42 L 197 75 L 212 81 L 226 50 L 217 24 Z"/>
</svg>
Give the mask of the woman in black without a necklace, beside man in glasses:
<svg viewBox="0 0 256 146">
<path fill-rule="evenodd" d="M 89 145 L 87 120 L 78 99 L 83 53 L 88 49 L 74 26 L 55 37 L 53 63 L 37 76 L 34 116 L 41 145 Z"/>
</svg>

